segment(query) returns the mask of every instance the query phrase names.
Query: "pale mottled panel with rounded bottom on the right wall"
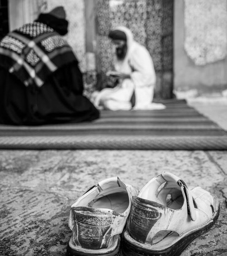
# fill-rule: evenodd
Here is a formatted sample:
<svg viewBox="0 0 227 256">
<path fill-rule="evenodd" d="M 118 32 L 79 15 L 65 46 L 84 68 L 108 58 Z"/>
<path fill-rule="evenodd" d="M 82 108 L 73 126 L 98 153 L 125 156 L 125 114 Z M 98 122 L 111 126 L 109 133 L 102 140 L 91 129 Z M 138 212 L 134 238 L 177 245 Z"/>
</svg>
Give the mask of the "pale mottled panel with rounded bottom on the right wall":
<svg viewBox="0 0 227 256">
<path fill-rule="evenodd" d="M 196 65 L 227 55 L 226 0 L 184 0 L 184 48 Z"/>
</svg>

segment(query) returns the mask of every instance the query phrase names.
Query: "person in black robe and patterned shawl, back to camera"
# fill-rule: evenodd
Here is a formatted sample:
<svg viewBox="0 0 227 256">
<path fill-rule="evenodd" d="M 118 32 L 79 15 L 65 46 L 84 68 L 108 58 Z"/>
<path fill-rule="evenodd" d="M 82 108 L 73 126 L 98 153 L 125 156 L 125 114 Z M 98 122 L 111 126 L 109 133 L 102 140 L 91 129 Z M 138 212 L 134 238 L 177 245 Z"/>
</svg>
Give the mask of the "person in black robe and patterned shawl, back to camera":
<svg viewBox="0 0 227 256">
<path fill-rule="evenodd" d="M 40 14 L 0 41 L 0 123 L 91 121 L 98 110 L 83 96 L 78 61 L 62 35 L 63 7 Z"/>
</svg>

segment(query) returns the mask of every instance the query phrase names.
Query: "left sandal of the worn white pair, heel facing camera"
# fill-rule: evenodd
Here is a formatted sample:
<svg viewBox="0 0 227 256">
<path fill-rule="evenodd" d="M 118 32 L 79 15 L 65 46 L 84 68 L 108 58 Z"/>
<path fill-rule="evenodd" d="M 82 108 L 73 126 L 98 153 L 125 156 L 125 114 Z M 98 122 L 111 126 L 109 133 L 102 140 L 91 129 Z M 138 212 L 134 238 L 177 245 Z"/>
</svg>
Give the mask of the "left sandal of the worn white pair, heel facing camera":
<svg viewBox="0 0 227 256">
<path fill-rule="evenodd" d="M 138 191 L 118 177 L 99 181 L 71 206 L 67 255 L 121 256 L 121 233 Z"/>
</svg>

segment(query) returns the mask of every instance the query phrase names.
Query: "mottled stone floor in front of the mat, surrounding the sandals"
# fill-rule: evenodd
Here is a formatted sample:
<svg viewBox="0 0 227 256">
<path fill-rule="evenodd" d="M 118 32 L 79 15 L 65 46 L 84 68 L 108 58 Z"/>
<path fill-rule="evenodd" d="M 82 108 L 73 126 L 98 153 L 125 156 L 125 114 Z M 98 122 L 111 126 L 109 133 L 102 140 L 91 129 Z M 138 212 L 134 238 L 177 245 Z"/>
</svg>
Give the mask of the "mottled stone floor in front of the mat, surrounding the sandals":
<svg viewBox="0 0 227 256">
<path fill-rule="evenodd" d="M 88 187 L 117 175 L 141 189 L 163 170 L 221 205 L 216 224 L 181 255 L 226 256 L 227 151 L 152 150 L 0 150 L 0 255 L 65 255 L 70 206 Z"/>
</svg>

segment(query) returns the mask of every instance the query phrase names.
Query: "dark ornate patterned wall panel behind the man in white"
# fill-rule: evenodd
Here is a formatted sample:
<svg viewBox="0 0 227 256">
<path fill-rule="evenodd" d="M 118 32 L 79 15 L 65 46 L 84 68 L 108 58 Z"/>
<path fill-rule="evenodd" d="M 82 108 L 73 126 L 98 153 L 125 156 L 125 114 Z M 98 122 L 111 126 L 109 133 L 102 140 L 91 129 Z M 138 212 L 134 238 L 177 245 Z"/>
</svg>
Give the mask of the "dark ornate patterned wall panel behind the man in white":
<svg viewBox="0 0 227 256">
<path fill-rule="evenodd" d="M 98 88 L 108 84 L 105 73 L 112 68 L 114 48 L 107 35 L 110 29 L 123 25 L 152 56 L 157 74 L 156 96 L 171 97 L 172 76 L 169 81 L 164 81 L 164 77 L 165 72 L 172 74 L 173 0 L 98 0 L 96 13 Z"/>
</svg>

